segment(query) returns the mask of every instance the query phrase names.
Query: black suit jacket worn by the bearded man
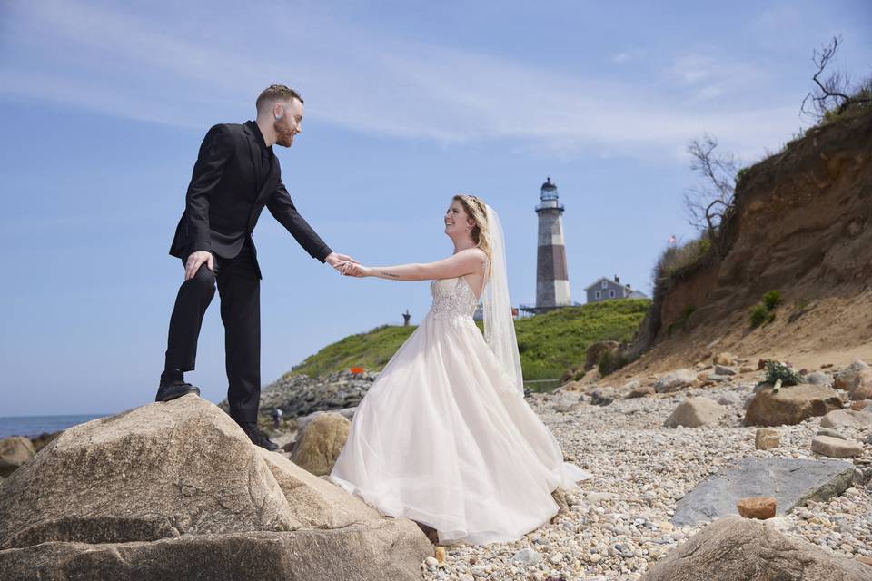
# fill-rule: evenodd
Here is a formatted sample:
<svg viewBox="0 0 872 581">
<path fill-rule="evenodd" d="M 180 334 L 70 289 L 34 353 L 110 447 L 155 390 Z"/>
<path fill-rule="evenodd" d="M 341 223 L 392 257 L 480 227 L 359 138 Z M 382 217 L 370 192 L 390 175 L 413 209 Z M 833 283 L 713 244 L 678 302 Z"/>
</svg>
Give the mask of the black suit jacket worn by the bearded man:
<svg viewBox="0 0 872 581">
<path fill-rule="evenodd" d="M 170 246 L 172 256 L 185 260 L 193 251 L 212 251 L 234 258 L 251 239 L 264 205 L 312 258 L 323 262 L 332 252 L 294 207 L 272 150 L 272 171 L 258 188 L 261 148 L 255 130 L 253 122 L 222 123 L 206 133 Z M 263 278 L 253 241 L 252 250 Z"/>
</svg>

